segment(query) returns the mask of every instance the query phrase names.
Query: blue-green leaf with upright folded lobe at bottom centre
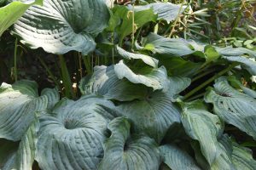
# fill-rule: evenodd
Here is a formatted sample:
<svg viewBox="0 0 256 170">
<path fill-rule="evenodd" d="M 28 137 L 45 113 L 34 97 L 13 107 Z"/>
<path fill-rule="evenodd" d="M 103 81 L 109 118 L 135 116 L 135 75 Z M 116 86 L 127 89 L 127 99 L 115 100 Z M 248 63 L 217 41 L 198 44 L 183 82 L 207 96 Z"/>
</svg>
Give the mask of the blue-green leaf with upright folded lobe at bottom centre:
<svg viewBox="0 0 256 170">
<path fill-rule="evenodd" d="M 114 119 L 108 125 L 112 134 L 104 144 L 104 157 L 99 169 L 157 170 L 160 151 L 154 139 L 131 136 L 131 123 L 124 117 Z"/>
</svg>

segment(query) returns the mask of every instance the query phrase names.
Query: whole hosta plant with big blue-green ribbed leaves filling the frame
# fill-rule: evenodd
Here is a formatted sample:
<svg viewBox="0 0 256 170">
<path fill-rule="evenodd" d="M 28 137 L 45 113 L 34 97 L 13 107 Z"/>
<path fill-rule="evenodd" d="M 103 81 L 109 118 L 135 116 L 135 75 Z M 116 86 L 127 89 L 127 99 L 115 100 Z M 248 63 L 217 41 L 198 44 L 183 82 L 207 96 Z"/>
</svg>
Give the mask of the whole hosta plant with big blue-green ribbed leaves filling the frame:
<svg viewBox="0 0 256 170">
<path fill-rule="evenodd" d="M 79 81 L 78 99 L 33 81 L 3 82 L 0 169 L 256 169 L 248 148 L 256 139 L 256 53 L 157 31 L 136 38 L 147 23 L 176 20 L 183 6 L 105 3 L 45 0 L 13 26 L 31 48 L 84 55 L 107 44 L 114 59 Z"/>
</svg>

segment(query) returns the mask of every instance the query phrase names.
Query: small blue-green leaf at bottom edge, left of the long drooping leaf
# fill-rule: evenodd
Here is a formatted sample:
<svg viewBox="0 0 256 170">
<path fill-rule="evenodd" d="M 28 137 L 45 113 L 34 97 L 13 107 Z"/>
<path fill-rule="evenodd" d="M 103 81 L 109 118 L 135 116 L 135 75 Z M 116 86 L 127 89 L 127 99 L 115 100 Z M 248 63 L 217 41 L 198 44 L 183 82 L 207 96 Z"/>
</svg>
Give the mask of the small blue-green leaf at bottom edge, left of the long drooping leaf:
<svg viewBox="0 0 256 170">
<path fill-rule="evenodd" d="M 191 156 L 175 145 L 166 144 L 160 146 L 160 154 L 163 161 L 171 169 L 200 170 Z"/>
</svg>

